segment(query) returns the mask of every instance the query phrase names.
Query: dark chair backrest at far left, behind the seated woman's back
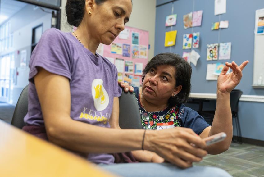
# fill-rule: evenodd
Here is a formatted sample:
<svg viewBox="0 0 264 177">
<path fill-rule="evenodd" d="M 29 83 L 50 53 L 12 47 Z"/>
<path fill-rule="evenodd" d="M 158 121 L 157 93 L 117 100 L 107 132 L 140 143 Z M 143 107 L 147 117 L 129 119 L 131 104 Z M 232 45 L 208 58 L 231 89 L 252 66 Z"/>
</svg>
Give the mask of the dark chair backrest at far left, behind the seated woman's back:
<svg viewBox="0 0 264 177">
<path fill-rule="evenodd" d="M 28 85 L 22 90 L 20 97 L 16 103 L 15 111 L 11 121 L 11 125 L 22 129 L 25 125 L 24 117 L 28 112 Z"/>
</svg>

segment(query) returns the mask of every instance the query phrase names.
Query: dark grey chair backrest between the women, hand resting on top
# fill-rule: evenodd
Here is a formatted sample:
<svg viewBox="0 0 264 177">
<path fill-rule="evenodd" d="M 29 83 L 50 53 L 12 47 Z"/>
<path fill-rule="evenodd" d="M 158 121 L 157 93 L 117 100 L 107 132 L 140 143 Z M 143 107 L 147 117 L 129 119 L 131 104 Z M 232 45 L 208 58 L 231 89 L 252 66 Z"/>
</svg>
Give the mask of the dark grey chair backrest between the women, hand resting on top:
<svg viewBox="0 0 264 177">
<path fill-rule="evenodd" d="M 139 105 L 133 93 L 124 92 L 119 97 L 119 126 L 121 129 L 142 129 Z"/>
</svg>

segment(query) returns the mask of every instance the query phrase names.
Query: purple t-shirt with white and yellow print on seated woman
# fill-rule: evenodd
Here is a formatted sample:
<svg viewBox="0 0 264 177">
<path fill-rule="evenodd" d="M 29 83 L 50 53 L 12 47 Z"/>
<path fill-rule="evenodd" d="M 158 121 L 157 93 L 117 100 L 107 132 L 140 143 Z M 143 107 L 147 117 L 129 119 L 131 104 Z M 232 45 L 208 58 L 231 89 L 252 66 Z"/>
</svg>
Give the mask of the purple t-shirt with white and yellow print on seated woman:
<svg viewBox="0 0 264 177">
<path fill-rule="evenodd" d="M 27 125 L 44 125 L 33 80 L 37 67 L 69 79 L 73 120 L 110 127 L 113 98 L 119 97 L 122 90 L 117 83 L 116 66 L 108 59 L 93 55 L 71 33 L 55 28 L 46 30 L 30 58 L 29 104 L 24 118 Z M 89 154 L 88 160 L 109 164 L 114 162 L 114 157 Z"/>
</svg>

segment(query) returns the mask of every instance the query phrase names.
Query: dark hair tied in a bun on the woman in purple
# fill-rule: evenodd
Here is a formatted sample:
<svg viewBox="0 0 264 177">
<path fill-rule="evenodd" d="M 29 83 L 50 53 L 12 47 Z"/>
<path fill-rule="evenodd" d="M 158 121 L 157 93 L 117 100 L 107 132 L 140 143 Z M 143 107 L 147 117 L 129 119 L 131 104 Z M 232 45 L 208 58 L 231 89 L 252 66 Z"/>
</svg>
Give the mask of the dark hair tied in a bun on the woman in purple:
<svg viewBox="0 0 264 177">
<path fill-rule="evenodd" d="M 94 0 L 96 4 L 100 5 L 107 0 Z M 132 0 L 131 0 L 132 3 Z M 85 0 L 67 0 L 66 2 L 66 16 L 69 25 L 78 27 L 84 18 Z"/>
</svg>

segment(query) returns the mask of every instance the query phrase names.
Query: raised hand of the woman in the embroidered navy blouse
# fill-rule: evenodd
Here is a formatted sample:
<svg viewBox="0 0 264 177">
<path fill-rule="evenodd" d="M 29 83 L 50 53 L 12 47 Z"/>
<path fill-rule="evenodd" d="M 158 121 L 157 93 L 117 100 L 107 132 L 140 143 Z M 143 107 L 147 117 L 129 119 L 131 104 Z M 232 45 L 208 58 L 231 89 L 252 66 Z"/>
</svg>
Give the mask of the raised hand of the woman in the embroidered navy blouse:
<svg viewBox="0 0 264 177">
<path fill-rule="evenodd" d="M 244 61 L 240 66 L 238 66 L 234 61 L 232 63 L 225 62 L 225 66 L 221 71 L 217 80 L 217 91 L 222 93 L 230 93 L 239 84 L 242 78 L 242 70 L 248 64 L 248 60 Z M 226 74 L 228 69 L 233 71 Z"/>
</svg>

